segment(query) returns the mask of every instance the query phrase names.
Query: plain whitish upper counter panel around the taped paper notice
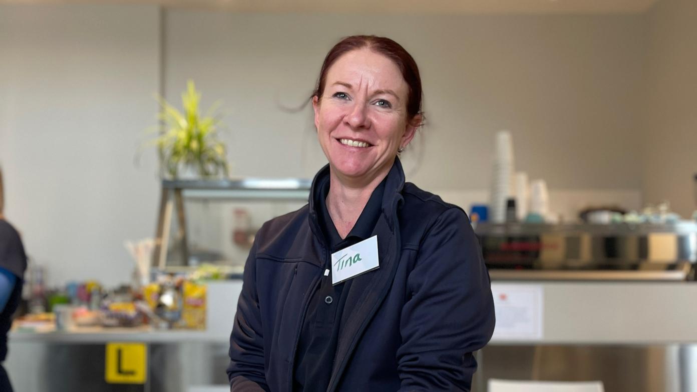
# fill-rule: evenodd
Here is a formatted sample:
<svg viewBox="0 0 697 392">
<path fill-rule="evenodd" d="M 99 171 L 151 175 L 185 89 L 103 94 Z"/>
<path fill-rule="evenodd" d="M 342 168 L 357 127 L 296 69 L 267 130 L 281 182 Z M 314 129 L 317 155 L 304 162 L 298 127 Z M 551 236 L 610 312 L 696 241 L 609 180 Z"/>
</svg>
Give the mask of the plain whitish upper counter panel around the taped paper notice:
<svg viewBox="0 0 697 392">
<path fill-rule="evenodd" d="M 697 282 L 493 281 L 544 292 L 541 339 L 489 345 L 697 343 Z"/>
</svg>

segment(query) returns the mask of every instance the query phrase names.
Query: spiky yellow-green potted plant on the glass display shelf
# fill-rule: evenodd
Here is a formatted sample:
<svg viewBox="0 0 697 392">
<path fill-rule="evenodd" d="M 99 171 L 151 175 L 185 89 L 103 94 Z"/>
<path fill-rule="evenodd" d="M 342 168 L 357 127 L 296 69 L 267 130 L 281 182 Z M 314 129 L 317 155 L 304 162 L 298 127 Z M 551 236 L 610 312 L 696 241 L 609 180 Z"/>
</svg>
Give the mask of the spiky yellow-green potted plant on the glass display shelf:
<svg viewBox="0 0 697 392">
<path fill-rule="evenodd" d="M 192 80 L 187 81 L 187 89 L 181 95 L 183 112 L 158 96 L 161 133 L 151 143 L 158 147 L 160 164 L 168 178 L 228 175 L 225 144 L 217 137 L 220 116 L 216 111 L 220 102 L 201 116 L 200 101 L 201 93 Z"/>
</svg>

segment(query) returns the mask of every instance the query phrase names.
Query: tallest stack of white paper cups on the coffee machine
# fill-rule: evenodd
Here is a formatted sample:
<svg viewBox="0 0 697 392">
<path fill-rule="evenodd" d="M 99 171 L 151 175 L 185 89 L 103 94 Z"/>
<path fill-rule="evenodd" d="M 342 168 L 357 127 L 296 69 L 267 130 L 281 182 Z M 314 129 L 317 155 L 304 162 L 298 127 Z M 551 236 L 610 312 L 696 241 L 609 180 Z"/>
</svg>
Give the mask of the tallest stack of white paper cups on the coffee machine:
<svg viewBox="0 0 697 392">
<path fill-rule="evenodd" d="M 493 152 L 493 172 L 491 179 L 491 220 L 503 223 L 506 220 L 506 200 L 514 192 L 513 141 L 511 133 L 502 130 L 496 134 Z"/>
</svg>

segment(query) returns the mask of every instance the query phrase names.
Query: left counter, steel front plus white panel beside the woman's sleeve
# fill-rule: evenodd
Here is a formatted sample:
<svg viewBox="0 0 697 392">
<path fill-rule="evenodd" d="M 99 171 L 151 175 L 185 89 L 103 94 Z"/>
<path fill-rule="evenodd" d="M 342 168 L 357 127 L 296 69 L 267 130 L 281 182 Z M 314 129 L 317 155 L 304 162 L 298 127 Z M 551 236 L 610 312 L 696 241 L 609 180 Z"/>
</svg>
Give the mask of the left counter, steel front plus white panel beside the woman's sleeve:
<svg viewBox="0 0 697 392">
<path fill-rule="evenodd" d="M 241 288 L 242 281 L 208 283 L 205 331 L 150 327 L 11 331 L 4 366 L 20 392 L 190 392 L 196 386 L 224 386 L 229 335 Z M 144 346 L 144 383 L 106 381 L 109 343 Z"/>
</svg>

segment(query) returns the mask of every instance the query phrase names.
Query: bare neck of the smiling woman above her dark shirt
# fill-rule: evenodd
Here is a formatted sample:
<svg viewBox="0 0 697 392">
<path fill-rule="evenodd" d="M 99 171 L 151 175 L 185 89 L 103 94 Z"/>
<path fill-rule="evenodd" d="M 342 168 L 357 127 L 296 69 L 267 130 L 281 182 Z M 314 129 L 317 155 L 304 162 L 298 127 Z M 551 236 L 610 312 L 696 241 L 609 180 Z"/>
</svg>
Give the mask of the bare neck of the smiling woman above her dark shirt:
<svg viewBox="0 0 697 392">
<path fill-rule="evenodd" d="M 381 171 L 371 180 L 362 182 L 349 182 L 330 170 L 326 205 L 339 237 L 344 239 L 348 233 L 351 233 L 373 191 L 390 172 L 390 167 L 388 166 L 387 170 Z"/>
</svg>

